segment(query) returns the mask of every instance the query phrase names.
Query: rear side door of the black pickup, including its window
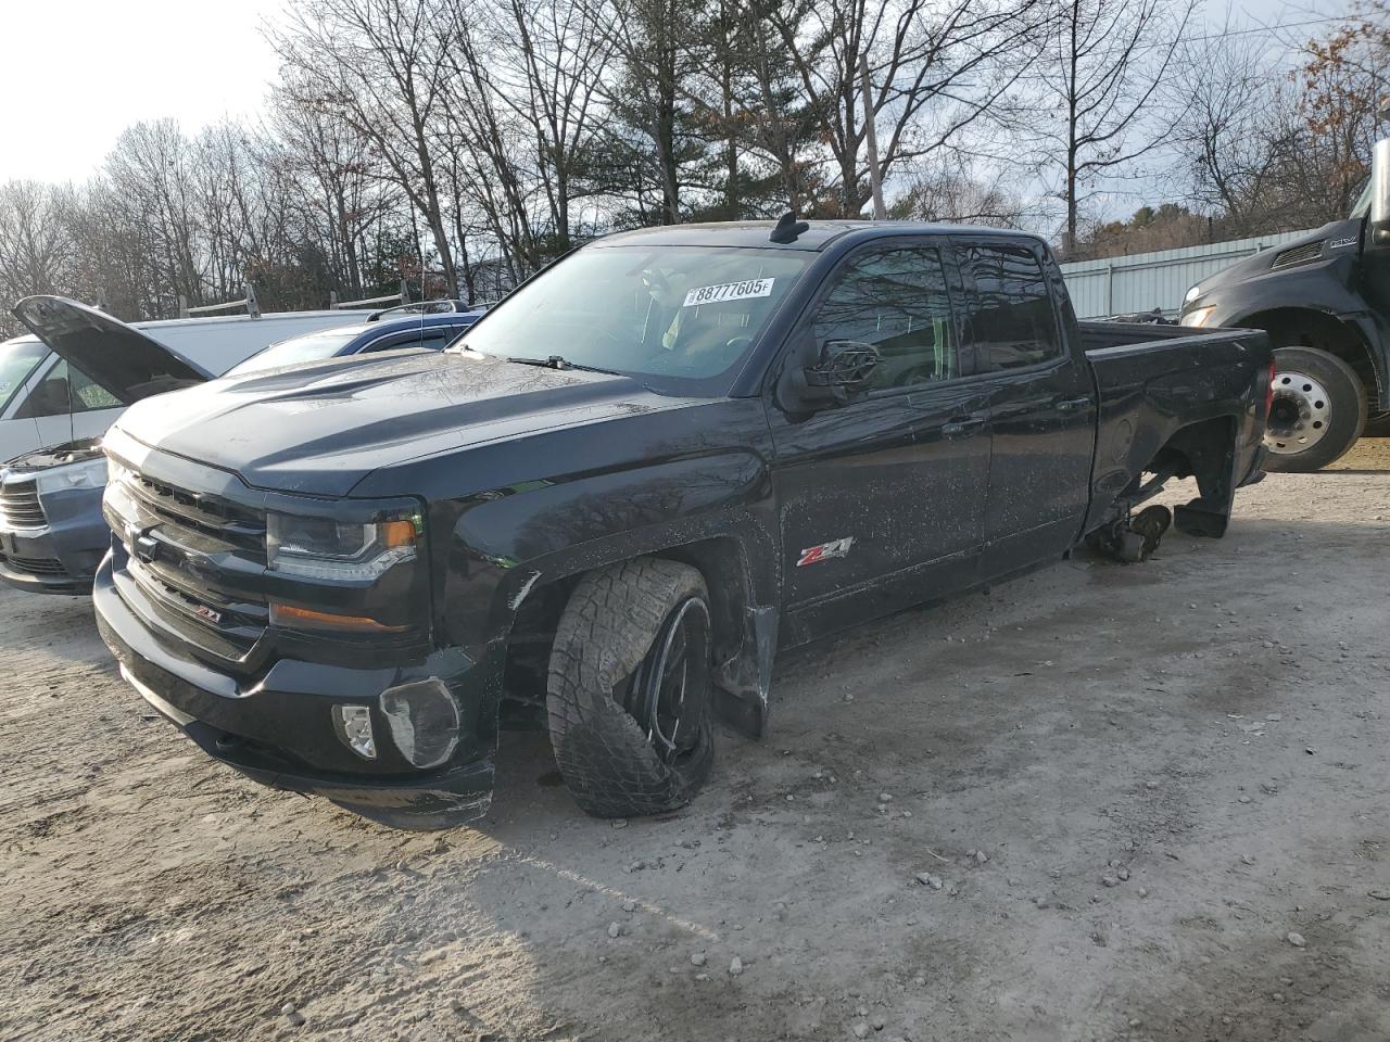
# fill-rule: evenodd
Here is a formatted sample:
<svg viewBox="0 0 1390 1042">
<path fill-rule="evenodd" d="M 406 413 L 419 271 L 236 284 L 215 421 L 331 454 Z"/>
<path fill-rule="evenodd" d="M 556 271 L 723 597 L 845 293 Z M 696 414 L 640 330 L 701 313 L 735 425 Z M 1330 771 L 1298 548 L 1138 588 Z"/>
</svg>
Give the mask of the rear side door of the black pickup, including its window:
<svg viewBox="0 0 1390 1042">
<path fill-rule="evenodd" d="M 991 578 L 1059 556 L 1080 534 L 1095 388 L 1061 272 L 1041 245 L 972 236 L 956 250 L 969 342 L 990 392 L 980 571 Z"/>
</svg>

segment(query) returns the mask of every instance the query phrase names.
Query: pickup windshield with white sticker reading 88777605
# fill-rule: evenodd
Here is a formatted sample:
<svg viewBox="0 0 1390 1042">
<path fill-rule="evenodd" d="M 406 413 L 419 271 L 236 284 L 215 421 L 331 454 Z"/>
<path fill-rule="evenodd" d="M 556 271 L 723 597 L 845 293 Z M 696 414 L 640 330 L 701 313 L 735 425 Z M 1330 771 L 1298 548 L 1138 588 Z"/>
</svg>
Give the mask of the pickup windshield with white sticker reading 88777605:
<svg viewBox="0 0 1390 1042">
<path fill-rule="evenodd" d="M 464 335 L 506 358 L 563 356 L 684 392 L 720 393 L 812 254 L 598 246 L 525 283 Z"/>
</svg>

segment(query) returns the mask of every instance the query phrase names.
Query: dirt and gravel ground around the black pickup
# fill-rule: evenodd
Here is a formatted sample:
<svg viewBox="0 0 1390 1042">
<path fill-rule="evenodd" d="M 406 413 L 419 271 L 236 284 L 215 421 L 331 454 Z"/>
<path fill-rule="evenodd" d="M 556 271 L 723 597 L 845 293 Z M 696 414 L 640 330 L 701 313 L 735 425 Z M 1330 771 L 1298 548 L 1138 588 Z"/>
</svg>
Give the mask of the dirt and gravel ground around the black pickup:
<svg viewBox="0 0 1390 1042">
<path fill-rule="evenodd" d="M 0 1038 L 1383 1042 L 1387 521 L 1368 440 L 1225 540 L 788 654 L 770 736 L 626 827 L 535 735 L 478 828 L 268 792 L 85 602 L 0 595 Z"/>
</svg>

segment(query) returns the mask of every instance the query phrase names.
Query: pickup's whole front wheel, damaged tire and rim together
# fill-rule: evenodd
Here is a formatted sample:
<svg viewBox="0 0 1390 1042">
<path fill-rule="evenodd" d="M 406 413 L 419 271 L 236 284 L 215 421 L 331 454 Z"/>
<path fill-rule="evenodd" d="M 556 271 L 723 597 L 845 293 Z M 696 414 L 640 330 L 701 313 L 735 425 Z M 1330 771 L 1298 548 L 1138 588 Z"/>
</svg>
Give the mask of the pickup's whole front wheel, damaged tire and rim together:
<svg viewBox="0 0 1390 1042">
<path fill-rule="evenodd" d="M 580 579 L 555 632 L 546 709 L 566 788 L 595 817 L 691 802 L 714 757 L 701 574 L 653 557 Z"/>
</svg>

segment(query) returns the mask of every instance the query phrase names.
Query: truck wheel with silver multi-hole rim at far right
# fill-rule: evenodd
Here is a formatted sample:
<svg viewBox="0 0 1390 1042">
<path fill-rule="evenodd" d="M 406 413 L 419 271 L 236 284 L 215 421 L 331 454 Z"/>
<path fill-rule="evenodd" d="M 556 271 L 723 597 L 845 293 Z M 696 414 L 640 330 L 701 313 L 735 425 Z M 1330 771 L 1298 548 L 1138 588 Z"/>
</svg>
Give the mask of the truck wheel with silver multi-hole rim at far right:
<svg viewBox="0 0 1390 1042">
<path fill-rule="evenodd" d="M 1322 470 L 1357 443 L 1365 425 L 1366 389 L 1347 363 L 1316 347 L 1275 352 L 1265 470 Z"/>
</svg>

